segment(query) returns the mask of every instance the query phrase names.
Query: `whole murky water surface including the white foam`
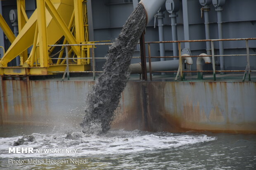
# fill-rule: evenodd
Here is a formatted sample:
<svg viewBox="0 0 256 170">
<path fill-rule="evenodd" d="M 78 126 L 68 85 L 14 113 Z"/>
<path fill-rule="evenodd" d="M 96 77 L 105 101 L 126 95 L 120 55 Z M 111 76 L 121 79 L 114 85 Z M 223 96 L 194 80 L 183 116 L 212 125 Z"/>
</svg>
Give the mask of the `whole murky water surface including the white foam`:
<svg viewBox="0 0 256 170">
<path fill-rule="evenodd" d="M 80 130 L 57 132 L 39 126 L 0 126 L 0 169 L 172 169 L 253 170 L 256 168 L 256 135 L 215 133 L 150 133 L 110 130 L 104 135 Z M 67 135 L 69 134 L 69 135 Z M 19 138 L 33 142 L 17 147 L 77 149 L 76 154 L 9 154 Z M 68 136 L 68 137 L 67 137 Z M 9 163 L 25 160 L 25 163 Z M 28 163 L 44 160 L 45 163 Z M 77 161 L 76 163 L 71 162 Z M 68 161 L 68 163 L 46 163 Z"/>
</svg>

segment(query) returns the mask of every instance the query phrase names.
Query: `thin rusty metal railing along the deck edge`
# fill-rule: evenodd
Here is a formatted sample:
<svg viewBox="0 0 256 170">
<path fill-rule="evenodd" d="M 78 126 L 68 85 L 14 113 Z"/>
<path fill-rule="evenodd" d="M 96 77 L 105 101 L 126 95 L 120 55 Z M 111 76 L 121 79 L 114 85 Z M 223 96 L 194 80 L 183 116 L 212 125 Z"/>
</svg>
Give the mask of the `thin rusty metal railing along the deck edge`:
<svg viewBox="0 0 256 170">
<path fill-rule="evenodd" d="M 244 72 L 244 76 L 242 81 L 245 80 L 245 77 L 248 72 L 248 77 L 249 81 L 251 81 L 251 72 L 256 72 L 256 70 L 251 70 L 250 69 L 250 56 L 256 56 L 256 54 L 249 54 L 249 40 L 256 40 L 256 38 L 236 38 L 236 39 L 215 39 L 215 40 L 180 40 L 180 41 L 154 41 L 154 42 L 145 42 L 145 44 L 148 44 L 148 56 L 145 58 L 148 58 L 149 60 L 149 76 L 150 80 L 152 81 L 152 73 L 153 72 L 176 72 L 177 76 L 175 80 L 177 80 L 178 75 L 180 74 L 180 79 L 183 80 L 183 73 L 184 72 L 213 72 L 213 80 L 216 80 L 216 72 Z M 214 44 L 213 42 L 217 41 L 245 41 L 246 42 L 246 54 L 228 54 L 228 55 L 215 55 L 214 53 Z M 182 63 L 182 58 L 185 58 L 187 56 L 181 56 L 181 43 L 183 42 L 211 42 L 211 53 L 212 55 L 205 55 L 212 57 L 212 67 L 213 70 L 191 70 L 191 71 L 185 71 L 183 70 L 183 63 Z M 159 44 L 159 43 L 178 43 L 178 51 L 179 51 L 179 56 L 151 56 L 151 50 L 150 50 L 150 44 Z M 50 47 L 65 47 L 66 49 L 66 57 L 65 58 L 49 58 L 49 59 L 66 59 L 66 70 L 64 71 L 64 75 L 62 77 L 62 80 L 64 79 L 65 75 L 67 74 L 67 78 L 69 80 L 69 59 L 92 59 L 92 71 L 78 71 L 78 72 L 84 72 L 84 73 L 93 73 L 93 79 L 95 80 L 95 75 L 96 73 L 101 73 L 102 71 L 95 71 L 95 59 L 106 59 L 105 57 L 95 57 L 95 52 L 94 48 L 95 46 L 98 45 L 111 45 L 112 43 L 92 43 L 92 44 L 56 44 L 56 45 L 49 45 Z M 67 47 L 70 46 L 92 46 L 92 57 L 90 58 L 69 58 L 68 57 L 68 49 Z M 247 66 L 245 70 L 216 70 L 215 67 L 215 57 L 217 56 L 247 56 Z M 199 56 L 189 56 L 189 57 L 199 57 Z M 133 58 L 141 58 L 141 57 L 133 57 Z M 179 69 L 177 71 L 152 71 L 152 66 L 151 66 L 151 58 L 179 58 Z M 73 73 L 75 71 L 72 71 Z M 62 72 L 53 72 L 53 73 L 62 73 Z M 75 72 L 77 73 L 77 72 Z"/>
</svg>

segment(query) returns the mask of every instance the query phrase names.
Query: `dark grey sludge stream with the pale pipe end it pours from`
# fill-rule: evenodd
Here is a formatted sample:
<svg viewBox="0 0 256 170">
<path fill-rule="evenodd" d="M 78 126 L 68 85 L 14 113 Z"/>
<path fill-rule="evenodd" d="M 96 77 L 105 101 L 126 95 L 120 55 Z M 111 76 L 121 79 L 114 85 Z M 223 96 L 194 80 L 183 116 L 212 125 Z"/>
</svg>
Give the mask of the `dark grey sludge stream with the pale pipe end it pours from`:
<svg viewBox="0 0 256 170">
<path fill-rule="evenodd" d="M 133 51 L 157 10 L 165 0 L 142 0 L 126 21 L 121 33 L 109 48 L 103 73 L 87 96 L 86 114 L 81 126 L 86 130 L 98 124 L 102 132 L 110 129 L 114 111 L 130 75 L 128 68 Z"/>
</svg>

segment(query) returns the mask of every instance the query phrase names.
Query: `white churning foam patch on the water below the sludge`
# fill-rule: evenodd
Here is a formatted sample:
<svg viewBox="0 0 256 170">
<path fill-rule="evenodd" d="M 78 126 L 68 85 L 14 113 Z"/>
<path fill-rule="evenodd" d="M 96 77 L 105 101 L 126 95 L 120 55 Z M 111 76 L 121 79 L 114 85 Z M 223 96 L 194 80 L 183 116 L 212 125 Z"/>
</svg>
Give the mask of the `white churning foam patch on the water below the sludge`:
<svg viewBox="0 0 256 170">
<path fill-rule="evenodd" d="M 135 131 L 109 131 L 105 135 L 88 135 L 82 132 L 71 133 L 73 139 L 66 139 L 66 134 L 31 134 L 33 142 L 25 142 L 16 147 L 33 147 L 36 149 L 78 149 L 76 154 L 9 154 L 9 147 L 19 137 L 0 138 L 0 158 L 47 158 L 47 157 L 79 157 L 109 154 L 129 154 L 156 149 L 172 149 L 185 145 L 209 142 L 216 137 L 207 135 L 187 135 L 173 133 L 145 133 Z"/>
</svg>

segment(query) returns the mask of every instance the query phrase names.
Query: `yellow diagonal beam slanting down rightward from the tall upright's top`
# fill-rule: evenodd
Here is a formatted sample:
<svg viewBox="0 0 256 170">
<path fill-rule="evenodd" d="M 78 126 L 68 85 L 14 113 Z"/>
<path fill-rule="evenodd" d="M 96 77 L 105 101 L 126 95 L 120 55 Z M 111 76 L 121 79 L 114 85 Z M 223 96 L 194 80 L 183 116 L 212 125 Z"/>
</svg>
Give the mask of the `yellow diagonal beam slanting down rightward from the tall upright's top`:
<svg viewBox="0 0 256 170">
<path fill-rule="evenodd" d="M 77 44 L 76 39 L 71 34 L 70 30 L 66 26 L 65 22 L 63 21 L 62 17 L 59 15 L 58 11 L 55 9 L 54 5 L 50 0 L 45 0 L 46 8 L 48 12 L 52 15 L 52 18 L 58 23 L 60 30 L 62 30 L 64 36 L 66 37 L 69 44 Z M 38 25 L 39 26 L 39 25 Z M 81 51 L 78 46 L 72 46 L 73 51 L 77 56 L 81 56 Z"/>
</svg>

